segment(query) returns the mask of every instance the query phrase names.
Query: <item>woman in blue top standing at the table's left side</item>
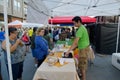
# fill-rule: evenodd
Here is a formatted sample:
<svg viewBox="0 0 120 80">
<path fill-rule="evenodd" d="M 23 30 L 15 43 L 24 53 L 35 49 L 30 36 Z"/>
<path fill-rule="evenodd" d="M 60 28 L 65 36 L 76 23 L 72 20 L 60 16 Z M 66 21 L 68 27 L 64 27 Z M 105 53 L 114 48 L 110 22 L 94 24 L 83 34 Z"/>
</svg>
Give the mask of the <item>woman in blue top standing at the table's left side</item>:
<svg viewBox="0 0 120 80">
<path fill-rule="evenodd" d="M 48 55 L 48 42 L 43 38 L 45 30 L 43 28 L 39 28 L 37 30 L 37 34 L 35 37 L 35 53 L 36 59 L 38 60 L 39 67 L 46 56 Z"/>
</svg>

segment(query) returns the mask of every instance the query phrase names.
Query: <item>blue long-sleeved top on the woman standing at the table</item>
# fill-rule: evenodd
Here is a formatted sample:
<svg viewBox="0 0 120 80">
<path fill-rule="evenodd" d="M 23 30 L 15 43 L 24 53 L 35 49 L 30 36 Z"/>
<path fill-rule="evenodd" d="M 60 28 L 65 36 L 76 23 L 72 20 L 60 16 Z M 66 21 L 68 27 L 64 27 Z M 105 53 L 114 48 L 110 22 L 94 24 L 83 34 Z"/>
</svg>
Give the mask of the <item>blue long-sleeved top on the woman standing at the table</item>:
<svg viewBox="0 0 120 80">
<path fill-rule="evenodd" d="M 48 42 L 42 36 L 35 37 L 35 54 L 39 60 L 48 55 Z"/>
</svg>

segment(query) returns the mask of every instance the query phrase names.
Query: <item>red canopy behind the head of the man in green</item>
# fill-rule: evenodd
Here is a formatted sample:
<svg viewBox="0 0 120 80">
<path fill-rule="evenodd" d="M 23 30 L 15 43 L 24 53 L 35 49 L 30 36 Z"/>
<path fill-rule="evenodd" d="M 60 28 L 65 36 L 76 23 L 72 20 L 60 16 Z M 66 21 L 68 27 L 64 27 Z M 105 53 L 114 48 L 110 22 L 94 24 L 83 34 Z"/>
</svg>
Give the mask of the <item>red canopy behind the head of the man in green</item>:
<svg viewBox="0 0 120 80">
<path fill-rule="evenodd" d="M 52 19 L 49 19 L 49 24 L 52 23 L 53 24 L 64 24 L 64 23 L 72 23 L 72 18 L 73 16 L 69 16 L 69 17 L 54 17 Z M 94 23 L 96 22 L 96 18 L 92 18 L 92 17 L 88 17 L 88 16 L 81 16 L 82 22 L 83 23 Z"/>
</svg>

